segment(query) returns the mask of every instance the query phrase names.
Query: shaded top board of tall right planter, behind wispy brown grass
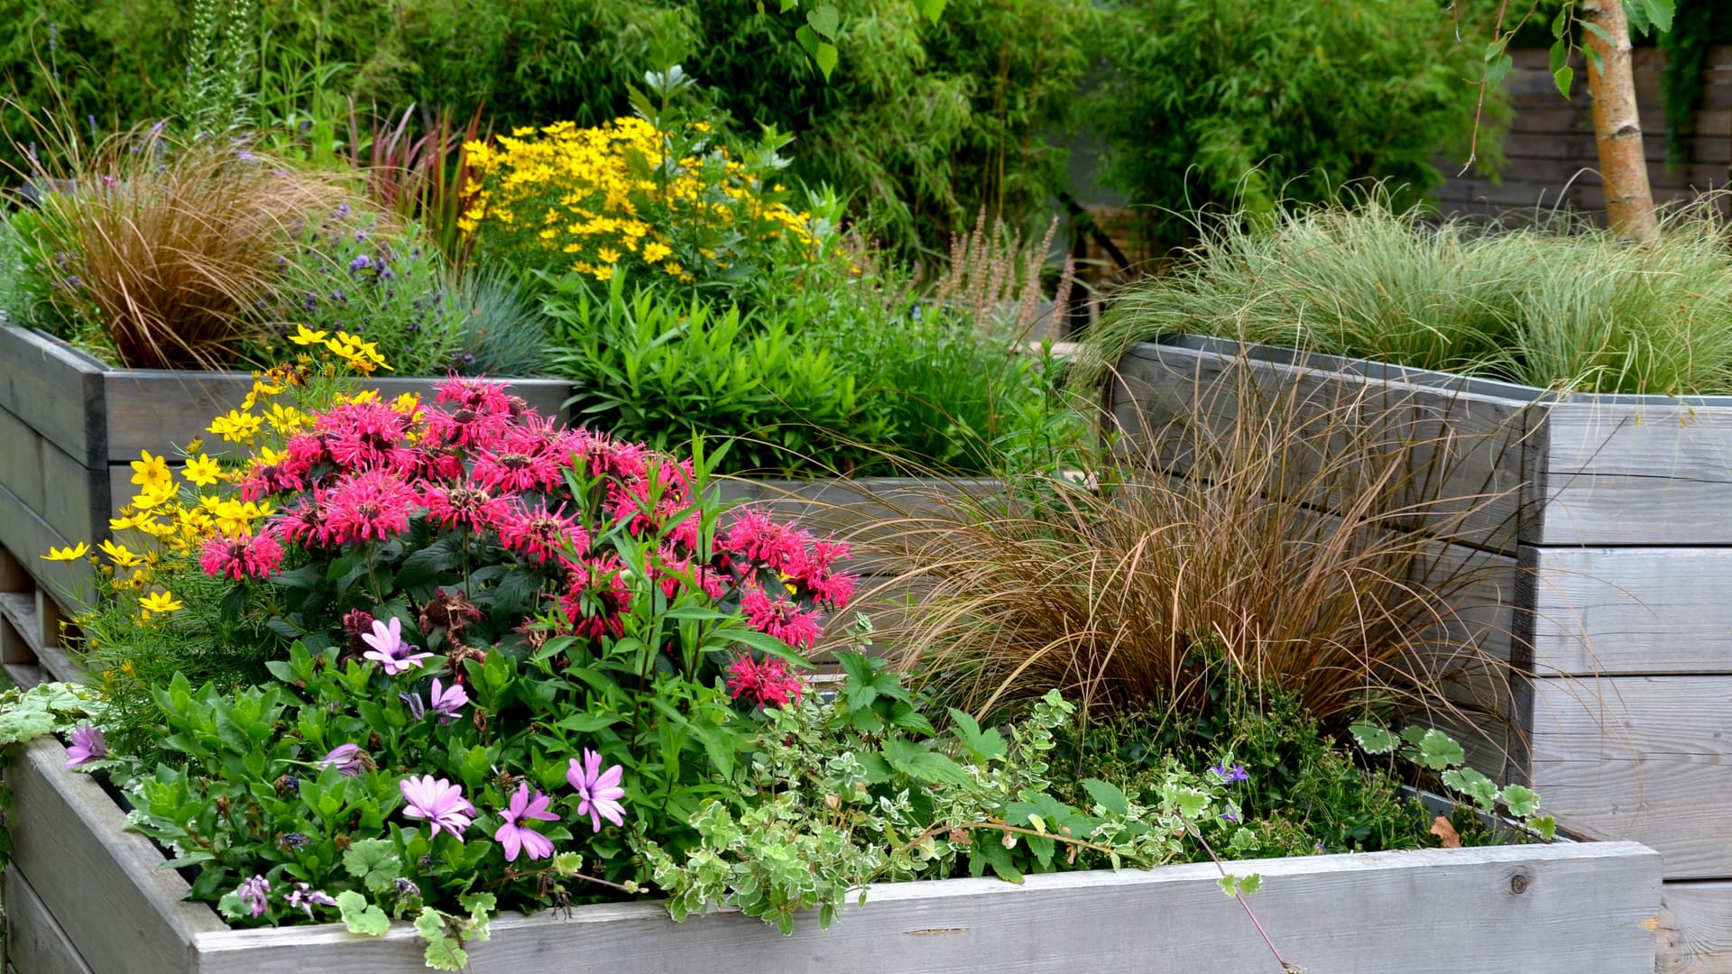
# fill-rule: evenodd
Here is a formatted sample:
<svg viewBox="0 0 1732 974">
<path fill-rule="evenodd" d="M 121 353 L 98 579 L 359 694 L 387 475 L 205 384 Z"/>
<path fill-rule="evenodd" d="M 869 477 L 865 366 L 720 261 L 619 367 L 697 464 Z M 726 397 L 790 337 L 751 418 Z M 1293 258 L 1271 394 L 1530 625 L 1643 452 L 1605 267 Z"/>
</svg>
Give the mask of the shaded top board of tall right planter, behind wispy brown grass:
<svg viewBox="0 0 1732 974">
<path fill-rule="evenodd" d="M 1536 390 L 1266 347 L 1251 352 L 1256 357 L 1157 343 L 1126 350 L 1108 390 L 1122 449 L 1166 470 L 1192 470 L 1199 437 L 1223 437 L 1238 418 L 1242 390 L 1254 388 L 1244 395 L 1254 395 L 1257 409 L 1282 428 L 1325 433 L 1332 456 L 1347 449 L 1337 416 L 1365 430 L 1354 433 L 1360 444 L 1405 451 L 1403 503 L 1420 513 L 1403 520 L 1516 553 L 1533 404 L 1500 392 Z M 1301 490 L 1315 489 L 1313 468 L 1304 459 L 1296 468 Z M 1301 499 L 1339 510 L 1332 497 Z"/>
</svg>

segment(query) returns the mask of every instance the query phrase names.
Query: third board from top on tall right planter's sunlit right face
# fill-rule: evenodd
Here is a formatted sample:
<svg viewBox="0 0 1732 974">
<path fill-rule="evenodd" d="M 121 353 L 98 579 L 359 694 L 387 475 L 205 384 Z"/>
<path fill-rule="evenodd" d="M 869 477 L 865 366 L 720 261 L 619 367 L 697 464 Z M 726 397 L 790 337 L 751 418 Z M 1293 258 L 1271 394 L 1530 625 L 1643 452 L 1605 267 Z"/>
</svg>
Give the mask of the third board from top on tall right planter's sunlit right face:
<svg viewBox="0 0 1732 974">
<path fill-rule="evenodd" d="M 1661 853 L 1666 879 L 1732 875 L 1732 676 L 1535 679 L 1543 809 Z"/>
</svg>

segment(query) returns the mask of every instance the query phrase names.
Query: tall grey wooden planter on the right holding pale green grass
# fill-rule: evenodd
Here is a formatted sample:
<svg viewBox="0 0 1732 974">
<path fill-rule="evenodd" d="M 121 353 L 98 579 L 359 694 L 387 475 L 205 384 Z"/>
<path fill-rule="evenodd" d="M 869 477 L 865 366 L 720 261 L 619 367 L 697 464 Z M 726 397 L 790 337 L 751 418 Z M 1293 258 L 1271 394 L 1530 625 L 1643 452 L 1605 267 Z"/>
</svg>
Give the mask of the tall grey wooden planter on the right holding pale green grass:
<svg viewBox="0 0 1732 974">
<path fill-rule="evenodd" d="M 1247 374 L 1323 404 L 1384 395 L 1458 435 L 1439 496 L 1498 499 L 1451 556 L 1486 568 L 1472 610 L 1510 688 L 1460 700 L 1517 731 L 1477 761 L 1573 832 L 1659 851 L 1678 880 L 1661 971 L 1732 971 L 1732 397 L 1550 393 L 1174 336 L 1126 352 L 1110 406 L 1134 442 Z"/>
</svg>

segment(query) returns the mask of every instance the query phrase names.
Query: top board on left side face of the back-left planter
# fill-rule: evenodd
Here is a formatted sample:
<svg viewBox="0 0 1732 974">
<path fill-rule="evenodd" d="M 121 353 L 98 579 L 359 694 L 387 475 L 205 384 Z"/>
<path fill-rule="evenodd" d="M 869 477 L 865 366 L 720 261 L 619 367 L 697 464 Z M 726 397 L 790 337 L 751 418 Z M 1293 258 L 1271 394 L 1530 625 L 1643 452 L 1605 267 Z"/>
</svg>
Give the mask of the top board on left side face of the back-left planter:
<svg viewBox="0 0 1732 974">
<path fill-rule="evenodd" d="M 102 362 L 57 338 L 0 326 L 0 409 L 85 466 L 104 449 Z"/>
</svg>

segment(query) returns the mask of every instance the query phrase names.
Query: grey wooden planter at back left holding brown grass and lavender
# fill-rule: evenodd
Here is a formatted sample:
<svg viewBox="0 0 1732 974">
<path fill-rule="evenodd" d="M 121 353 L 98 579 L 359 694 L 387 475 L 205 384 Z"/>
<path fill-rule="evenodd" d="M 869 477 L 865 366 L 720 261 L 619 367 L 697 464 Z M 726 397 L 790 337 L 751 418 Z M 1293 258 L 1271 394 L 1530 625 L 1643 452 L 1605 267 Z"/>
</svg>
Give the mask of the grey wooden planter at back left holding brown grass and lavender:
<svg viewBox="0 0 1732 974">
<path fill-rule="evenodd" d="M 430 393 L 433 378 L 378 378 L 386 395 Z M 544 414 L 559 414 L 570 383 L 511 380 L 513 392 Z M 109 536 L 107 522 L 137 490 L 139 451 L 210 440 L 211 416 L 241 406 L 244 373 L 111 369 L 42 331 L 0 326 L 0 548 L 38 584 L 64 593 L 88 579 L 88 565 L 55 565 L 48 546 Z"/>
</svg>

